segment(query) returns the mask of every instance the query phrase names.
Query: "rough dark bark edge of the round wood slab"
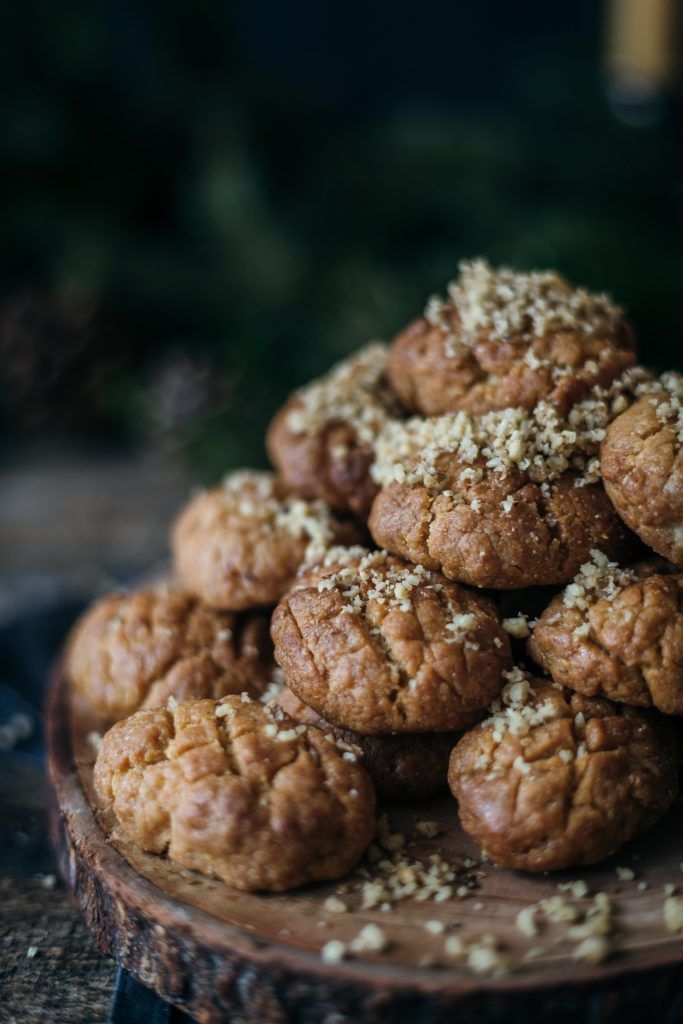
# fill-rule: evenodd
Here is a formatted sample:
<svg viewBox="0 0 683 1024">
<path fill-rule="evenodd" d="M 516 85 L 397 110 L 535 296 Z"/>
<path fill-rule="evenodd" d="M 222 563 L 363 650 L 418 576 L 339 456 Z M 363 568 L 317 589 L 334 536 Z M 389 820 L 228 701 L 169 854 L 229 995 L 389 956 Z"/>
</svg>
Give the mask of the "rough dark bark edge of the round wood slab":
<svg viewBox="0 0 683 1024">
<path fill-rule="evenodd" d="M 452 1024 L 456 1019 L 459 1024 L 516 1019 L 568 1024 L 578 1015 L 592 1024 L 683 1020 L 683 937 L 597 967 L 564 963 L 544 972 L 487 978 L 377 961 L 331 966 L 317 949 L 236 927 L 177 898 L 168 879 L 175 870 L 185 886 L 197 884 L 201 892 L 206 885 L 205 905 L 219 883 L 194 883 L 193 872 L 173 866 L 169 872 L 161 858 L 156 858 L 160 877 L 153 882 L 102 827 L 77 764 L 69 690 L 59 666 L 49 683 L 46 741 L 50 822 L 60 870 L 99 948 L 201 1024 Z M 678 856 L 683 859 L 683 852 Z M 511 891 L 522 885 L 519 876 L 509 876 Z M 671 878 L 683 884 L 680 872 L 678 880 Z M 543 884 L 557 892 L 557 880 Z M 279 897 L 281 911 L 284 900 Z M 463 903 L 455 908 L 468 912 Z M 425 920 L 436 916 L 436 909 L 423 910 Z M 294 900 L 292 912 L 297 912 Z"/>
</svg>

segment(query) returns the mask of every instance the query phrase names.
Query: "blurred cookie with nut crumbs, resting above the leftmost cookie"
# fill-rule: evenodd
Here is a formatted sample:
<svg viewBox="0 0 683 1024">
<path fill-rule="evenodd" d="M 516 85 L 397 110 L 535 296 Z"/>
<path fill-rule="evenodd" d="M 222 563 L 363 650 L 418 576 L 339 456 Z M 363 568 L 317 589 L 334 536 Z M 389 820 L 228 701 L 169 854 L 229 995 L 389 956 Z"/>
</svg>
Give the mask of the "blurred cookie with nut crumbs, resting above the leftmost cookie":
<svg viewBox="0 0 683 1024">
<path fill-rule="evenodd" d="M 324 502 L 292 497 L 273 473 L 244 470 L 185 506 L 172 546 L 194 593 L 240 611 L 274 604 L 330 545 L 358 539 L 358 527 L 340 522 Z"/>
</svg>

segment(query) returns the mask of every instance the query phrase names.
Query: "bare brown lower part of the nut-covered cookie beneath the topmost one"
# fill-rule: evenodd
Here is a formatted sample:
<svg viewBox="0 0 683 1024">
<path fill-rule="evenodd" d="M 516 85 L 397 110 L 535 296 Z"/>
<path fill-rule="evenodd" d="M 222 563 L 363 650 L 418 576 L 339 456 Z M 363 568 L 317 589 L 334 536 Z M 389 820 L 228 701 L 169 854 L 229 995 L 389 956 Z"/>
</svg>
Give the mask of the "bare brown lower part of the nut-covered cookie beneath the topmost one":
<svg viewBox="0 0 683 1024">
<path fill-rule="evenodd" d="M 450 580 L 498 590 L 566 583 L 599 548 L 628 557 L 631 539 L 599 483 L 562 474 L 545 487 L 512 469 L 450 493 L 390 483 L 375 499 L 373 539 Z"/>
</svg>

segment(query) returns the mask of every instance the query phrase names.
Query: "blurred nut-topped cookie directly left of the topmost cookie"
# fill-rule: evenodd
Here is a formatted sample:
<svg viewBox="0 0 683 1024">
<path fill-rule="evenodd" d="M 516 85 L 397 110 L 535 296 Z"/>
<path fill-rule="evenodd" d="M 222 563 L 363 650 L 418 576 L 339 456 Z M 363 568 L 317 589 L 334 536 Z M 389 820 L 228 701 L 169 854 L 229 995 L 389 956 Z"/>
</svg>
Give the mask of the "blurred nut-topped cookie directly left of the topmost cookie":
<svg viewBox="0 0 683 1024">
<path fill-rule="evenodd" d="M 386 361 L 385 345 L 368 345 L 301 388 L 278 413 L 266 446 L 294 494 L 367 516 L 377 493 L 370 475 L 373 443 L 386 421 L 399 415 L 384 380 Z"/>
</svg>

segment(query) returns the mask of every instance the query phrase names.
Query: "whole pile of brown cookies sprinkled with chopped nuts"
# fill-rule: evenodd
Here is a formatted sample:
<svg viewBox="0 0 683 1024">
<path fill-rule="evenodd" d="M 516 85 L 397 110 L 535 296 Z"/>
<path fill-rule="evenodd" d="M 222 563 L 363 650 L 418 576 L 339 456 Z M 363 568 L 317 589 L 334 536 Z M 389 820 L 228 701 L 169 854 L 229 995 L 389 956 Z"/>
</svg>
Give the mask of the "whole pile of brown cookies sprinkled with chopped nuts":
<svg viewBox="0 0 683 1024">
<path fill-rule="evenodd" d="M 274 472 L 189 502 L 177 583 L 77 624 L 103 805 L 248 890 L 342 877 L 376 797 L 449 787 L 504 867 L 610 855 L 677 795 L 682 445 L 683 378 L 607 296 L 462 264 L 292 396 Z"/>
</svg>

